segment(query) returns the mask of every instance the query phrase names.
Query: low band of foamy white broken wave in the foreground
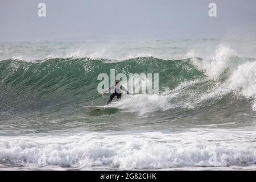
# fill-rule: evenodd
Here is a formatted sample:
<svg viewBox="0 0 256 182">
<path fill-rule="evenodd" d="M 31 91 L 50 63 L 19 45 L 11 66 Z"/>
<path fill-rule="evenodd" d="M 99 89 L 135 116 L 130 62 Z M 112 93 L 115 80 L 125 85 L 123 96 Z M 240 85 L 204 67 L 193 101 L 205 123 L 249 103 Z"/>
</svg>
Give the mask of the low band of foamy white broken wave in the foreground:
<svg viewBox="0 0 256 182">
<path fill-rule="evenodd" d="M 225 140 L 223 134 L 229 134 Z M 229 130 L 1 137 L 0 164 L 89 169 L 248 166 L 255 164 L 254 137 L 253 131 L 241 135 Z"/>
</svg>

